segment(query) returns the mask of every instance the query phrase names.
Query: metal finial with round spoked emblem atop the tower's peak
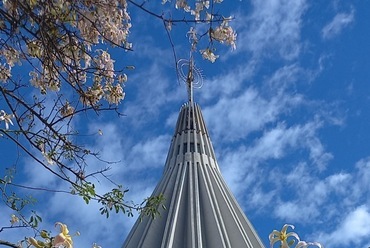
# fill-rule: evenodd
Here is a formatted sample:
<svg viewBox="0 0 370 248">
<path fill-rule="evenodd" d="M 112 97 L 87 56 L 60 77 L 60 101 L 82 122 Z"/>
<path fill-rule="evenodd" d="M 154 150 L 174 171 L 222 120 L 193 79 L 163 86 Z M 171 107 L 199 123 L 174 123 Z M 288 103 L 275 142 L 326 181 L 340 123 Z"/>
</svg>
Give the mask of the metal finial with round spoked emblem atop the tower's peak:
<svg viewBox="0 0 370 248">
<path fill-rule="evenodd" d="M 201 70 L 195 67 L 192 54 L 190 60 L 180 59 L 177 62 L 177 71 L 179 78 L 186 83 L 189 102 L 193 102 L 193 88 L 203 86 L 203 76 Z"/>
</svg>

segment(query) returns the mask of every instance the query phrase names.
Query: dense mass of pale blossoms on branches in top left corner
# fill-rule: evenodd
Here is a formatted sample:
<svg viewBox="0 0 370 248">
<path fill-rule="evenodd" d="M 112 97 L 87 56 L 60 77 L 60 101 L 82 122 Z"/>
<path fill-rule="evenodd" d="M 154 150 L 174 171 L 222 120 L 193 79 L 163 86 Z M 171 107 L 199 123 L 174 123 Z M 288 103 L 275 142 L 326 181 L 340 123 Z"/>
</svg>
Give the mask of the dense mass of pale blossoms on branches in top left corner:
<svg viewBox="0 0 370 248">
<path fill-rule="evenodd" d="M 106 42 L 132 49 L 126 0 L 4 1 L 2 8 L 14 20 L 26 19 L 17 27 L 24 33 L 21 38 L 1 44 L 0 82 L 9 80 L 12 67 L 23 60 L 32 65 L 30 83 L 42 94 L 58 92 L 66 83 L 88 106 L 99 104 L 101 99 L 110 104 L 123 100 L 122 82 L 127 76 L 116 75 L 108 51 L 94 47 Z M 7 28 L 4 23 L 3 29 Z M 19 46 L 26 49 L 17 49 Z M 88 78 L 93 79 L 90 85 Z M 73 112 L 63 108 L 62 116 Z"/>
</svg>

